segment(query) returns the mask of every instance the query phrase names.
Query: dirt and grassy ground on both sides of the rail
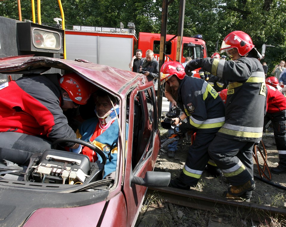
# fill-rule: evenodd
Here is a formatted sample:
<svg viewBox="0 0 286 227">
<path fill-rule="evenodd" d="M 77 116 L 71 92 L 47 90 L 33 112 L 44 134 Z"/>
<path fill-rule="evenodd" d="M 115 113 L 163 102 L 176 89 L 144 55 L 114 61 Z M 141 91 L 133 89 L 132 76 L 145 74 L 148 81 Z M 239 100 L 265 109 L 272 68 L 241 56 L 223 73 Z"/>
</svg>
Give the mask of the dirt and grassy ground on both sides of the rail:
<svg viewBox="0 0 286 227">
<path fill-rule="evenodd" d="M 167 130 L 161 129 L 161 139 L 167 138 Z M 273 133 L 265 133 L 262 141 L 265 144 L 267 150 L 267 164 L 269 168 L 278 165 L 279 158 L 274 142 Z M 190 140 L 182 138 L 178 142 L 178 150 L 175 158 L 169 158 L 167 156 L 167 147 L 161 149 L 159 152 L 155 171 L 170 172 L 172 179 L 175 179 L 180 175 L 181 170 L 184 167 L 188 148 L 191 145 Z M 263 163 L 260 156 L 259 162 Z M 266 171 L 267 172 L 267 171 Z M 266 182 L 259 177 L 258 168 L 254 161 L 254 178 L 256 184 L 256 190 L 252 194 L 251 203 L 263 204 L 268 206 L 276 206 L 280 208 L 286 208 L 286 174 L 271 175 L 271 181 L 265 179 Z M 266 174 L 269 177 L 269 174 Z M 271 182 L 272 184 L 269 184 Z M 284 188 L 273 186 L 273 184 L 279 184 Z M 229 183 L 226 177 L 222 176 L 215 178 L 207 172 L 203 172 L 203 175 L 197 185 L 191 189 L 200 191 L 212 195 L 222 195 L 228 188 Z M 230 212 L 230 211 L 229 211 Z M 170 203 L 164 203 L 164 201 L 157 197 L 156 193 L 148 195 L 141 208 L 141 212 L 137 219 L 136 227 L 284 227 L 286 226 L 285 220 L 277 220 L 276 217 L 271 217 L 271 221 L 263 221 L 261 223 L 252 222 L 252 220 L 244 219 L 243 214 L 238 213 L 223 213 L 220 211 L 201 211 L 197 209 L 191 209 L 183 206 L 178 206 Z"/>
</svg>

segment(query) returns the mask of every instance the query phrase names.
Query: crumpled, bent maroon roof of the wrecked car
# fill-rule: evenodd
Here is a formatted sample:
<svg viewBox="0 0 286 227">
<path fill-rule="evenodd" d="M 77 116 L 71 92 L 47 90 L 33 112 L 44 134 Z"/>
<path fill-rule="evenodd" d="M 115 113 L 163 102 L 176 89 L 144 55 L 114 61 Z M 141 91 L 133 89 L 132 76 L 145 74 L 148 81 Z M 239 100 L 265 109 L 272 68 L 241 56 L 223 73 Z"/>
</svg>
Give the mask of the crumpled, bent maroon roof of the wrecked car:
<svg viewBox="0 0 286 227">
<path fill-rule="evenodd" d="M 33 57 L 32 55 L 0 58 L 0 73 L 4 74 L 43 73 L 49 68 L 74 71 L 98 87 L 121 95 L 129 92 L 138 84 L 148 82 L 142 74 L 91 63 L 83 59 L 71 61 L 60 58 Z"/>
</svg>

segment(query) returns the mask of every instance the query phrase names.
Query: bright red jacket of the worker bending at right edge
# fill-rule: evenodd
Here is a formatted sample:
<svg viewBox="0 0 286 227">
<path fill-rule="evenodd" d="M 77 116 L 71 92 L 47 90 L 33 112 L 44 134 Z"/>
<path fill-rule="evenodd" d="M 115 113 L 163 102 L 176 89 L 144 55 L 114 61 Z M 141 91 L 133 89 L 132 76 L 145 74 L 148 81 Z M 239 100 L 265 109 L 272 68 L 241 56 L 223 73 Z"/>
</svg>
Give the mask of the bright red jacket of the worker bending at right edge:
<svg viewBox="0 0 286 227">
<path fill-rule="evenodd" d="M 286 109 L 286 98 L 281 92 L 279 92 L 276 88 L 266 84 L 266 93 L 267 113 L 277 113 Z"/>
</svg>

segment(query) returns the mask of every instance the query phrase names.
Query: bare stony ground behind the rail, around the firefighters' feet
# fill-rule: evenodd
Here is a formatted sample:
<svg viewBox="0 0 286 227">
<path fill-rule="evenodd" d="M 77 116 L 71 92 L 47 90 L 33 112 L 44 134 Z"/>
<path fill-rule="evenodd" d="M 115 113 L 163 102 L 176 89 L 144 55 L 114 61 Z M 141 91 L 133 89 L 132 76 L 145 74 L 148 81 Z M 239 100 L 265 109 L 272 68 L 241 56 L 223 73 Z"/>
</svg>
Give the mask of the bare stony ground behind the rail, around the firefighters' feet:
<svg viewBox="0 0 286 227">
<path fill-rule="evenodd" d="M 167 137 L 167 130 L 161 130 L 161 139 Z M 262 139 L 265 149 L 267 151 L 267 164 L 269 169 L 276 167 L 279 162 L 278 152 L 276 150 L 276 145 L 273 137 L 273 133 L 264 133 Z M 190 140 L 182 138 L 178 142 L 178 150 L 175 153 L 175 158 L 169 158 L 167 156 L 167 147 L 159 152 L 156 166 L 157 171 L 170 172 L 172 179 L 180 175 L 181 170 L 184 167 L 186 155 L 191 145 Z M 260 147 L 261 145 L 259 145 Z M 261 150 L 262 147 L 261 147 Z M 264 163 L 261 155 L 258 154 L 259 163 Z M 265 170 L 266 176 L 269 177 L 268 171 Z M 277 207 L 286 208 L 286 174 L 271 174 L 271 182 L 269 182 L 265 177 L 263 177 L 266 182 L 260 180 L 257 164 L 254 160 L 254 180 L 256 184 L 256 190 L 252 194 L 251 202 L 257 204 L 271 205 Z M 271 183 L 271 184 L 269 184 Z M 273 186 L 273 184 L 279 184 L 283 188 Z M 191 188 L 203 192 L 208 195 L 222 195 L 222 193 L 228 188 L 229 183 L 226 177 L 215 178 L 211 176 L 208 172 L 203 172 L 203 175 L 197 185 L 197 187 Z"/>
</svg>

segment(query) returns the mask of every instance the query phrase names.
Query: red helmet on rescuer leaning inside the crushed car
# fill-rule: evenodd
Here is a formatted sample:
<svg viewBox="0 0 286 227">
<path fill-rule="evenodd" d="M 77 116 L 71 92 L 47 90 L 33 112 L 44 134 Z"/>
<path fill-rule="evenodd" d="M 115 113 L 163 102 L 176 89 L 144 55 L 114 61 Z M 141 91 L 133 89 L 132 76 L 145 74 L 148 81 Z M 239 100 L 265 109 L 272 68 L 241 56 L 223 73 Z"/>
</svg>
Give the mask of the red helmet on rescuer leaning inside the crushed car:
<svg viewBox="0 0 286 227">
<path fill-rule="evenodd" d="M 63 75 L 59 79 L 59 84 L 76 104 L 86 104 L 91 96 L 92 84 L 74 72 Z"/>
</svg>

